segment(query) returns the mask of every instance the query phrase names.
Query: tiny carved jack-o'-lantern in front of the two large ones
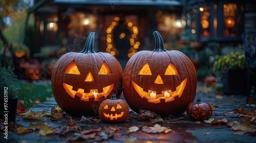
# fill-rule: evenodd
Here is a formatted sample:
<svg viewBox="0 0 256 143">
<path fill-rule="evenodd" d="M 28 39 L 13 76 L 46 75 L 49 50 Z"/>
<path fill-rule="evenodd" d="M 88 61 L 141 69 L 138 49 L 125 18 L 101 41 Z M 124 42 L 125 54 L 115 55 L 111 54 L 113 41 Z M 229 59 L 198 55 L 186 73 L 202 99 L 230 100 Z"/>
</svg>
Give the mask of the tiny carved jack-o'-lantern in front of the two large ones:
<svg viewBox="0 0 256 143">
<path fill-rule="evenodd" d="M 99 118 L 103 122 L 120 123 L 124 122 L 129 115 L 129 106 L 116 95 L 111 99 L 104 100 L 99 106 Z"/>
</svg>

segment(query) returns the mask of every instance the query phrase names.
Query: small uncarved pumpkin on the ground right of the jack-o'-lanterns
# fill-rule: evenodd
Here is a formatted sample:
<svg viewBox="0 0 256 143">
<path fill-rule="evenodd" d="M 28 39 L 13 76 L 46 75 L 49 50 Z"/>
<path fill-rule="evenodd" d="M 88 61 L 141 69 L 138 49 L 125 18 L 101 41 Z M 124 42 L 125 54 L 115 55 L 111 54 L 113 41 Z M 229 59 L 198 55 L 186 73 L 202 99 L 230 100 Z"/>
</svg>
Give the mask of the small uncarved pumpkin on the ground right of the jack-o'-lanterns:
<svg viewBox="0 0 256 143">
<path fill-rule="evenodd" d="M 208 120 L 211 117 L 211 114 L 212 108 L 210 104 L 201 102 L 201 98 L 198 98 L 196 103 L 190 103 L 187 106 L 187 115 L 192 120 Z"/>
</svg>

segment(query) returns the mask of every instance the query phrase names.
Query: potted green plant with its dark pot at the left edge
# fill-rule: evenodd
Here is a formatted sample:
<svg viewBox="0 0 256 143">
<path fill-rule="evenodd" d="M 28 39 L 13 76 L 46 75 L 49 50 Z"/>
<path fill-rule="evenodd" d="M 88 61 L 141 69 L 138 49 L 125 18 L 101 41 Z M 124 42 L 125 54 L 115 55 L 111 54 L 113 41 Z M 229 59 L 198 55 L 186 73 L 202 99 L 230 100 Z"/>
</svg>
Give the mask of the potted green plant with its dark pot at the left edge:
<svg viewBox="0 0 256 143">
<path fill-rule="evenodd" d="M 4 122 L 15 121 L 18 102 L 18 91 L 15 87 L 16 75 L 12 67 L 2 67 L 0 64 L 0 118 Z"/>
</svg>

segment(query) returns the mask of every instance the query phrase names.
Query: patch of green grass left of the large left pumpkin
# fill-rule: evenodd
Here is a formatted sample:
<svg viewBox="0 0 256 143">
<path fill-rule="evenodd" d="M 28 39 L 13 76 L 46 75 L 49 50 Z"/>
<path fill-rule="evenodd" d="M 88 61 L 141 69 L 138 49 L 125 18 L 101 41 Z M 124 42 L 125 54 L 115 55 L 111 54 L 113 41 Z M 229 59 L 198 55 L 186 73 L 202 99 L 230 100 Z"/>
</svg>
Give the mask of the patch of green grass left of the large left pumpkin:
<svg viewBox="0 0 256 143">
<path fill-rule="evenodd" d="M 18 87 L 19 101 L 26 108 L 53 97 L 50 81 L 33 81 L 29 83 L 25 80 L 17 80 L 15 85 Z"/>
</svg>

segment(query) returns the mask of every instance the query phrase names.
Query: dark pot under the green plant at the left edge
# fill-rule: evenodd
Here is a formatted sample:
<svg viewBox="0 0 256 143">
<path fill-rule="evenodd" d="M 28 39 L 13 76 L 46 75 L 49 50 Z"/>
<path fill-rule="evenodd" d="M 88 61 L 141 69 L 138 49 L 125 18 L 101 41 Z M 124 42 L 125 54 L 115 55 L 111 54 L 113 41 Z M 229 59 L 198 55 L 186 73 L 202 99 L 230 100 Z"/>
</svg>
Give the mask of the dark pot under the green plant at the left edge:
<svg viewBox="0 0 256 143">
<path fill-rule="evenodd" d="M 7 103 L 5 101 L 8 101 Z M 4 120 L 4 122 L 14 122 L 16 118 L 16 110 L 17 110 L 18 98 L 13 99 L 0 99 L 0 118 Z M 5 106 L 6 105 L 6 106 Z"/>
</svg>

